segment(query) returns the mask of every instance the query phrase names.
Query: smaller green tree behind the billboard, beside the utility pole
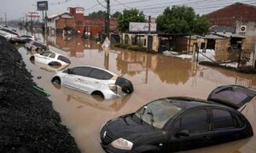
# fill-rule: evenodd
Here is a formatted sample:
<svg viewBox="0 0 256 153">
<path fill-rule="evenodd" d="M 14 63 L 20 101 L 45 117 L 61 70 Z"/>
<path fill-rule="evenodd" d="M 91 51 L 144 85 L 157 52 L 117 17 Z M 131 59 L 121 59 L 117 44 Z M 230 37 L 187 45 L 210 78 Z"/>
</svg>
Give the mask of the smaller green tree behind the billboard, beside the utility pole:
<svg viewBox="0 0 256 153">
<path fill-rule="evenodd" d="M 145 15 L 137 8 L 125 9 L 123 14 L 119 14 L 118 24 L 119 30 L 126 32 L 129 31 L 129 22 L 145 22 Z"/>
</svg>

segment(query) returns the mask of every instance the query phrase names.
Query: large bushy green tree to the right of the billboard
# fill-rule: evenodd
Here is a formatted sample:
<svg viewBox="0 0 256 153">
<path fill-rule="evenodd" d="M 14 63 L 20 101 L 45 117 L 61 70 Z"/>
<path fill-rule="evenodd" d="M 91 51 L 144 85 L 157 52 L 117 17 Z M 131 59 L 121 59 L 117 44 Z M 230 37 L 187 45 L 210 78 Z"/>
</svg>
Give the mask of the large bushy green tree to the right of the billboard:
<svg viewBox="0 0 256 153">
<path fill-rule="evenodd" d="M 171 34 L 202 34 L 210 27 L 204 15 L 195 14 L 193 8 L 186 6 L 166 8 L 156 23 L 159 31 Z"/>
</svg>

